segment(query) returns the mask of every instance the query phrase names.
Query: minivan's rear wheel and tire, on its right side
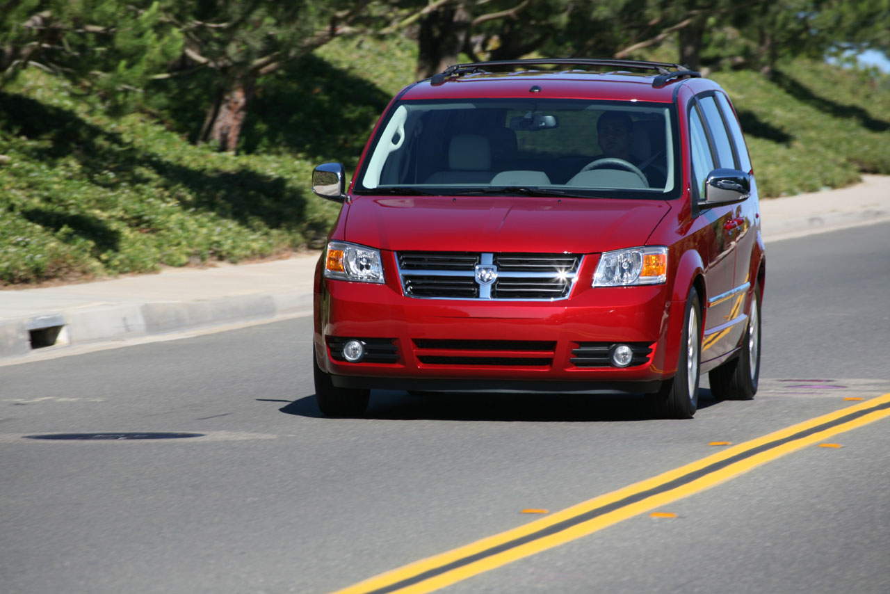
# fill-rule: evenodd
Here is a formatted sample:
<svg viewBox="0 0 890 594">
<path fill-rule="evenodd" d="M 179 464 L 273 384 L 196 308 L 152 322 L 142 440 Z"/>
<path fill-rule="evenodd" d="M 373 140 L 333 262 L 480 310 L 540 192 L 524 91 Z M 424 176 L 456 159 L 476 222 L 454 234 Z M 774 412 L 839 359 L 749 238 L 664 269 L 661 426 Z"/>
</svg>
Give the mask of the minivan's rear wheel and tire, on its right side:
<svg viewBox="0 0 890 594">
<path fill-rule="evenodd" d="M 751 400 L 757 393 L 759 379 L 760 288 L 756 287 L 739 356 L 711 370 L 708 380 L 711 394 L 719 400 Z"/>
</svg>

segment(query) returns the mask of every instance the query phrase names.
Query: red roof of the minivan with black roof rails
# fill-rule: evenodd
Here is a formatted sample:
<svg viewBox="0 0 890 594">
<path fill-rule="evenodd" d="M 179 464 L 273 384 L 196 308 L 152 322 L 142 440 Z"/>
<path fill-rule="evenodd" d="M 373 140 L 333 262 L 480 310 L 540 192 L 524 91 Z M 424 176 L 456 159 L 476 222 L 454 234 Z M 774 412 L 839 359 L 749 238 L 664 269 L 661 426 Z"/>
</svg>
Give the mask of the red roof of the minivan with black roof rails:
<svg viewBox="0 0 890 594">
<path fill-rule="evenodd" d="M 574 64 L 606 67 L 538 69 L 539 65 Z M 518 71 L 515 71 L 519 68 Z M 513 71 L 492 72 L 491 69 Z M 642 70 L 637 72 L 631 69 Z M 611 60 L 519 60 L 450 66 L 445 72 L 403 90 L 401 99 L 515 98 L 636 100 L 674 102 L 677 85 L 699 82 L 700 74 L 676 64 Z M 704 81 L 701 81 L 704 82 Z M 708 81 L 710 83 L 710 81 Z M 699 86 L 699 85 L 695 85 Z M 716 87 L 715 84 L 701 86 Z"/>
</svg>

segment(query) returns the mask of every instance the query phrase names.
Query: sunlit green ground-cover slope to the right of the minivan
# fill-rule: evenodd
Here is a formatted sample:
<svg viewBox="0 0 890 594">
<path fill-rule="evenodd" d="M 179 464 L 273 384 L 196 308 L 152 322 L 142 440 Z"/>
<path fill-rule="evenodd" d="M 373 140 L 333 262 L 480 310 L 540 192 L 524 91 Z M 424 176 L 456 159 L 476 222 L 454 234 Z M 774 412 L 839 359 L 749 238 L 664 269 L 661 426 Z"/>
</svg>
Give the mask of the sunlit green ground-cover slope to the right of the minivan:
<svg viewBox="0 0 890 594">
<path fill-rule="evenodd" d="M 773 77 L 722 72 L 765 197 L 842 187 L 861 172 L 890 175 L 890 77 L 817 61 Z"/>
</svg>

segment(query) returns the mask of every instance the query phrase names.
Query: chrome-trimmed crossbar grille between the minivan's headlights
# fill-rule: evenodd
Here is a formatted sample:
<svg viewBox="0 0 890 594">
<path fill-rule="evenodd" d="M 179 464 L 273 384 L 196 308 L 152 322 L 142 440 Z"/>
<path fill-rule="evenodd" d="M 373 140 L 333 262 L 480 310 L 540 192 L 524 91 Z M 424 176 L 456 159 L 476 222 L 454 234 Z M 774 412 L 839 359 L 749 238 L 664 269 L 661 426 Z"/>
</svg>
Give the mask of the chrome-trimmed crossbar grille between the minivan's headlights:
<svg viewBox="0 0 890 594">
<path fill-rule="evenodd" d="M 407 297 L 553 301 L 569 297 L 582 256 L 493 252 L 399 252 L 401 286 Z M 493 268 L 490 283 L 476 278 Z"/>
</svg>

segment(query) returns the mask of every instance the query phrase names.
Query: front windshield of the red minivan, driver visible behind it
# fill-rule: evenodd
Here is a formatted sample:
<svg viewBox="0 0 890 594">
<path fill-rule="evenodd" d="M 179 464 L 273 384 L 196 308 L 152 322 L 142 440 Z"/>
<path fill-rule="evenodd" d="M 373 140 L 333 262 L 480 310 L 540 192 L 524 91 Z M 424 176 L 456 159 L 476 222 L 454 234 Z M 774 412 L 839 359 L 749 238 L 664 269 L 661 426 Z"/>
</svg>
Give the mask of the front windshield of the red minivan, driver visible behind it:
<svg viewBox="0 0 890 594">
<path fill-rule="evenodd" d="M 674 198 L 673 113 L 633 101 L 399 102 L 378 128 L 355 191 Z"/>
</svg>

